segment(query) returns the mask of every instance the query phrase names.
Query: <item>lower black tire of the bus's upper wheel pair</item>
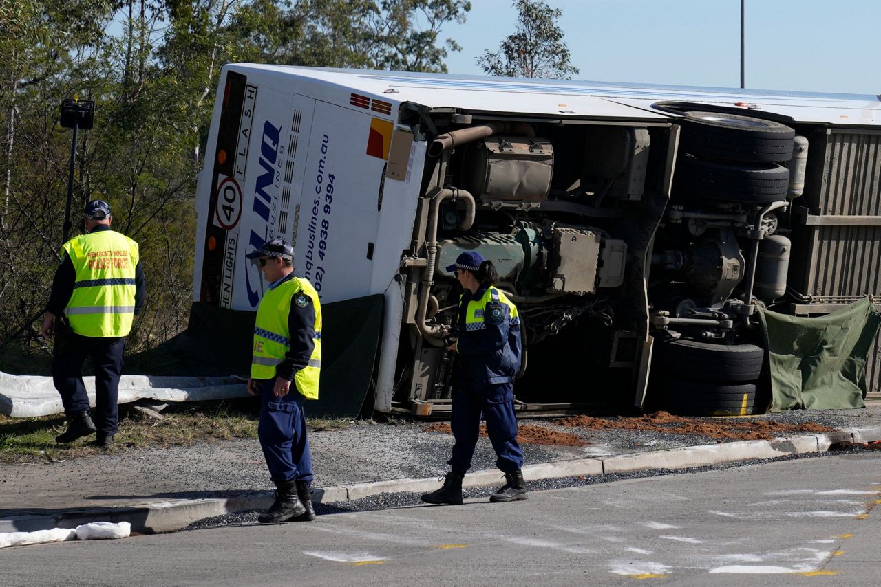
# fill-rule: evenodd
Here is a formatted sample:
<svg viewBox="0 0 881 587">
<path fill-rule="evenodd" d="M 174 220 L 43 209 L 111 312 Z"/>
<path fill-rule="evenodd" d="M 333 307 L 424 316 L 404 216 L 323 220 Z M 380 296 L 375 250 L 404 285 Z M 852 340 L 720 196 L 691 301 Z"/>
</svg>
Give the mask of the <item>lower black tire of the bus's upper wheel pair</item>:
<svg viewBox="0 0 881 587">
<path fill-rule="evenodd" d="M 789 170 L 776 163 L 732 165 L 681 157 L 673 176 L 673 194 L 723 202 L 781 202 L 788 188 Z"/>
</svg>

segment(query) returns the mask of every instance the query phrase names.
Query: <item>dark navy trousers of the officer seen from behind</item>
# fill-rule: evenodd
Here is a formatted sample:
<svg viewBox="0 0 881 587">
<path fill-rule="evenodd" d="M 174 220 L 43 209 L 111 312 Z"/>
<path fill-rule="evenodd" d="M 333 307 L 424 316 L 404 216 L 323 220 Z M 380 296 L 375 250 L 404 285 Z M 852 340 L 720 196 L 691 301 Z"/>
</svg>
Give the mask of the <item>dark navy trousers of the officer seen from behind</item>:
<svg viewBox="0 0 881 587">
<path fill-rule="evenodd" d="M 64 412 L 78 414 L 89 409 L 89 396 L 83 385 L 83 363 L 92 359 L 95 372 L 95 409 L 92 420 L 99 436 L 116 434 L 119 424 L 119 378 L 122 377 L 124 338 L 95 338 L 76 334 L 56 319 L 52 382 L 61 394 Z"/>
</svg>

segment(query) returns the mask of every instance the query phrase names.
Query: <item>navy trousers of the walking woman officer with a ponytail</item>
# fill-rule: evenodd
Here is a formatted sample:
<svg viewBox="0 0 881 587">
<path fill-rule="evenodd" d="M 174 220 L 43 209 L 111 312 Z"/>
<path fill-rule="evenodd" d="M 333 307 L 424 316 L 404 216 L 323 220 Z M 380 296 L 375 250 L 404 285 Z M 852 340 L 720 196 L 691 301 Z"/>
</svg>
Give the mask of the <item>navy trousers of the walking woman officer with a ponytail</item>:
<svg viewBox="0 0 881 587">
<path fill-rule="evenodd" d="M 453 456 L 449 466 L 455 473 L 470 469 L 474 447 L 478 444 L 480 415 L 496 451 L 496 466 L 504 473 L 516 473 L 523 466 L 523 451 L 517 444 L 517 416 L 514 412 L 514 385 L 486 385 L 477 389 L 453 390 Z"/>
</svg>

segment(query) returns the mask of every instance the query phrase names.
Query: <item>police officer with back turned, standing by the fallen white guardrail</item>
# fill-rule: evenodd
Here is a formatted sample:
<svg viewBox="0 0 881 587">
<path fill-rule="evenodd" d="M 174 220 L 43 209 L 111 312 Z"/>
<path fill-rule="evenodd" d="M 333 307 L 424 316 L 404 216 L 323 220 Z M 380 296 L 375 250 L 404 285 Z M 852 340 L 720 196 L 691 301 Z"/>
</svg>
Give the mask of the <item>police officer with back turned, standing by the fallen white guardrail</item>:
<svg viewBox="0 0 881 587">
<path fill-rule="evenodd" d="M 69 419 L 56 442 L 71 443 L 97 430 L 94 444 L 107 449 L 119 421 L 125 336 L 144 305 L 144 271 L 137 243 L 110 230 L 113 215 L 107 202 L 87 203 L 83 216 L 85 234 L 62 246 L 41 334 L 56 338 L 52 380 Z M 83 385 L 86 356 L 95 372 L 94 421 Z"/>
</svg>

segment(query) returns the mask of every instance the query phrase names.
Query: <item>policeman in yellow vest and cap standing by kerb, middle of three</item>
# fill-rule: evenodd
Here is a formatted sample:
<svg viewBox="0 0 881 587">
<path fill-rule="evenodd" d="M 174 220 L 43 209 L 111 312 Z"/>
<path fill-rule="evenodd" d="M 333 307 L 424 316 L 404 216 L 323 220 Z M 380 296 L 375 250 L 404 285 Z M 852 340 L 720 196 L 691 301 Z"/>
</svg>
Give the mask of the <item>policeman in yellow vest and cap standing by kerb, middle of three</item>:
<svg viewBox="0 0 881 587">
<path fill-rule="evenodd" d="M 312 284 L 293 276 L 293 248 L 285 239 L 271 239 L 246 256 L 270 282 L 257 306 L 248 393 L 261 398 L 257 434 L 278 490 L 258 519 L 310 521 L 313 474 L 303 401 L 318 399 L 322 306 Z"/>
</svg>

